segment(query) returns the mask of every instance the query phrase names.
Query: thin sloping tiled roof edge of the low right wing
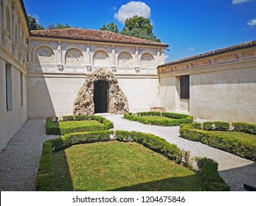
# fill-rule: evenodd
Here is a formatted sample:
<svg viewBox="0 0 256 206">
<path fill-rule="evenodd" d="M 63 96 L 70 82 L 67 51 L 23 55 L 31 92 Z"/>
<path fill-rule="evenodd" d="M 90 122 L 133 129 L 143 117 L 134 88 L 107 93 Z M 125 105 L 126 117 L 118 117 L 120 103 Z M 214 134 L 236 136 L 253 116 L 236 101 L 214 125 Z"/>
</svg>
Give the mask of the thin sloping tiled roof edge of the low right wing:
<svg viewBox="0 0 256 206">
<path fill-rule="evenodd" d="M 170 63 L 165 63 L 165 64 L 162 64 L 162 65 L 159 65 L 157 68 L 164 67 L 164 66 L 166 67 L 168 65 L 174 65 L 174 64 L 177 64 L 177 63 L 184 63 L 184 62 L 187 62 L 187 61 L 190 61 L 190 60 L 196 60 L 196 59 L 200 59 L 200 58 L 204 58 L 204 57 L 210 57 L 210 56 L 215 55 L 215 54 L 222 54 L 222 53 L 227 52 L 227 51 L 234 51 L 234 50 L 238 50 L 238 49 L 244 49 L 244 48 L 251 47 L 251 46 L 256 46 L 256 40 L 248 41 L 246 43 L 241 43 L 241 44 L 238 44 L 238 45 L 235 45 L 235 46 L 229 46 L 229 47 L 226 47 L 224 49 L 218 49 L 218 50 L 215 50 L 215 51 L 210 51 L 210 52 L 207 52 L 207 53 L 204 53 L 204 54 L 198 54 L 196 56 L 187 57 L 187 58 L 184 58 L 184 59 L 181 59 L 181 60 L 175 60 L 175 61 L 170 62 Z"/>
</svg>

